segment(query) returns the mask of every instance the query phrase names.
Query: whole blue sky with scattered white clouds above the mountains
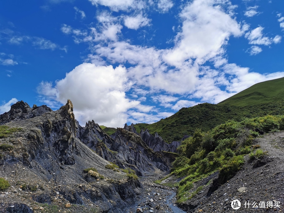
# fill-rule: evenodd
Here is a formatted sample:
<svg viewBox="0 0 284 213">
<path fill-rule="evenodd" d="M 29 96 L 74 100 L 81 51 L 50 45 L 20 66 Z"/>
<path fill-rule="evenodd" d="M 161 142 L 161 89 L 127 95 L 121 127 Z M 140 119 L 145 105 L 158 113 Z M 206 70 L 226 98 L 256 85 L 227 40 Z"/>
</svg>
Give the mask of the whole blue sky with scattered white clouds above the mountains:
<svg viewBox="0 0 284 213">
<path fill-rule="evenodd" d="M 0 113 L 18 100 L 84 124 L 153 123 L 284 77 L 284 2 L 2 0 Z"/>
</svg>

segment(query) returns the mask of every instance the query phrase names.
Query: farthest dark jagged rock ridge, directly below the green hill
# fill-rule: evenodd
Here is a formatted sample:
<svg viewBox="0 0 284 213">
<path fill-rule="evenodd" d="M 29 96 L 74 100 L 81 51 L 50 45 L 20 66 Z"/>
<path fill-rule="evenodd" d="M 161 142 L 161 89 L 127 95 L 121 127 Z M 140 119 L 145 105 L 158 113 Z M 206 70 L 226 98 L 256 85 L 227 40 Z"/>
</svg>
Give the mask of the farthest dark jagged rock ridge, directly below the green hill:
<svg viewBox="0 0 284 213">
<path fill-rule="evenodd" d="M 155 135 L 151 135 L 148 129 L 141 130 L 140 136 L 147 146 L 149 146 L 149 148 L 153 149 L 155 152 L 177 152 L 177 147 L 180 145 L 179 141 L 173 141 L 171 144 L 167 144 L 157 132 Z"/>
</svg>

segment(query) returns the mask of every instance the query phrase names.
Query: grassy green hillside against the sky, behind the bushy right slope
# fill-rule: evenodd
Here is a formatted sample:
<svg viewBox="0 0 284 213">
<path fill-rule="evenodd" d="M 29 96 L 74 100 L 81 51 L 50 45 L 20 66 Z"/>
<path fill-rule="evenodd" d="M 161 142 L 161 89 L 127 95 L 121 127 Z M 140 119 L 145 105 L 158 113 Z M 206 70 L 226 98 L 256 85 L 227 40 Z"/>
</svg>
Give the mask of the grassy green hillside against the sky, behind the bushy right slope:
<svg viewBox="0 0 284 213">
<path fill-rule="evenodd" d="M 196 128 L 207 131 L 230 119 L 241 121 L 265 115 L 284 115 L 284 78 L 257 83 L 218 104 L 182 108 L 147 128 L 150 133 L 158 132 L 165 141 L 171 142 L 181 140 L 183 135 L 192 135 Z M 137 130 L 143 125 L 134 126 Z"/>
</svg>

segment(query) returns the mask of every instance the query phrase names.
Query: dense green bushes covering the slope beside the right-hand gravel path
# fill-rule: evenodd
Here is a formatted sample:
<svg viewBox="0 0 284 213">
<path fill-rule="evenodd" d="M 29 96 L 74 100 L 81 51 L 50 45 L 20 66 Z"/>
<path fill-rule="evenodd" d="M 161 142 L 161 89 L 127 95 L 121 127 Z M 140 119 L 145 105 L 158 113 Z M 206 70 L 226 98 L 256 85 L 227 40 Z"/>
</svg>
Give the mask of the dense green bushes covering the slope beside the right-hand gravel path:
<svg viewBox="0 0 284 213">
<path fill-rule="evenodd" d="M 180 156 L 173 162 L 170 174 L 182 178 L 177 185 L 178 202 L 195 196 L 202 187 L 192 192 L 193 182 L 217 170 L 218 183 L 227 182 L 242 167 L 245 154 L 250 154 L 250 159 L 263 158 L 266 153 L 253 145 L 253 139 L 259 135 L 254 131 L 256 128 L 266 132 L 284 130 L 284 116 L 230 120 L 206 132 L 196 130 L 192 137 L 183 140 L 178 148 Z"/>
</svg>

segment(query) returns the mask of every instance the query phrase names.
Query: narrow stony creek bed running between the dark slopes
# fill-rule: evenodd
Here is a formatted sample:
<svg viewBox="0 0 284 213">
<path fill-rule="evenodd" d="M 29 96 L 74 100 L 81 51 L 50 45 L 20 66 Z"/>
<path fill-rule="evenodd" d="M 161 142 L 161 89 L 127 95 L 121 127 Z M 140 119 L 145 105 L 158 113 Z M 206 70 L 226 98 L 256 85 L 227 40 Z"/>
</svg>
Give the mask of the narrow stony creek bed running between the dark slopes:
<svg viewBox="0 0 284 213">
<path fill-rule="evenodd" d="M 140 197 L 135 204 L 125 209 L 126 213 L 137 212 L 138 208 L 144 213 L 186 213 L 175 204 L 175 189 L 154 183 L 158 177 L 148 176 L 140 179 L 143 185 Z"/>
</svg>

